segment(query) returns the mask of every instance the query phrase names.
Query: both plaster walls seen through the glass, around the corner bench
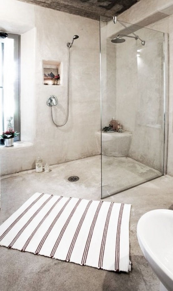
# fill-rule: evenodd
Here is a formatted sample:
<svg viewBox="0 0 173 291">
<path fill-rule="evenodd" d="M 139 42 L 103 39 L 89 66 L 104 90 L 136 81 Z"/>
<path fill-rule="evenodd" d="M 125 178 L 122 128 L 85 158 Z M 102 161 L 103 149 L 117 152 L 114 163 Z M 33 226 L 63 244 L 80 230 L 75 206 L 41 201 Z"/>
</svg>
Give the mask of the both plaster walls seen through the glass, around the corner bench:
<svg viewBox="0 0 173 291">
<path fill-rule="evenodd" d="M 132 133 L 128 156 L 162 172 L 163 33 L 138 26 L 132 28 L 145 40 L 145 46 L 133 38 L 125 38 L 124 43 L 111 43 L 118 33 L 128 35 L 129 31 L 124 30 L 120 23 L 115 25 L 112 20 L 106 26 L 102 24 L 101 59 L 106 63 L 101 68 L 104 82 L 101 88 L 102 121 L 108 124 L 115 116 L 124 130 Z"/>
</svg>

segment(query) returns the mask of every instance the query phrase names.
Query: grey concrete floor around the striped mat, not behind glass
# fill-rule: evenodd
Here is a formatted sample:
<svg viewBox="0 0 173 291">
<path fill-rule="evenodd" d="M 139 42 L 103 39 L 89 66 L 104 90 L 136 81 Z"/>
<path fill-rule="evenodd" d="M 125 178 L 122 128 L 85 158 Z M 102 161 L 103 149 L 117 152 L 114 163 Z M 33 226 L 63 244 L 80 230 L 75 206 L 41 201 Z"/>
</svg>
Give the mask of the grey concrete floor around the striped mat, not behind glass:
<svg viewBox="0 0 173 291">
<path fill-rule="evenodd" d="M 100 156 L 52 166 L 49 173 L 25 171 L 2 177 L 0 224 L 35 192 L 100 199 Z M 69 176 L 80 177 L 69 182 Z M 105 199 L 132 204 L 131 272 L 117 274 L 0 247 L 0 291 L 158 291 L 159 280 L 141 253 L 136 225 L 147 211 L 171 208 L 173 178 L 162 176 Z"/>
</svg>

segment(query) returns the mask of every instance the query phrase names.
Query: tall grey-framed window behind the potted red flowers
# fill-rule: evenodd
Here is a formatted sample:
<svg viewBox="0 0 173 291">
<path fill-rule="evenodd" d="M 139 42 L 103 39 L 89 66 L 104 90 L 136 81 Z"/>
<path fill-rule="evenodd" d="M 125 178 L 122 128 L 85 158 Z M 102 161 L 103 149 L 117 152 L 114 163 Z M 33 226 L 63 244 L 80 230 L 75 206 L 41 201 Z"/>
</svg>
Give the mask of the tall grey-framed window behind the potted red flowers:
<svg viewBox="0 0 173 291">
<path fill-rule="evenodd" d="M 19 53 L 20 35 L 0 38 L 0 133 L 9 127 L 20 132 Z"/>
</svg>

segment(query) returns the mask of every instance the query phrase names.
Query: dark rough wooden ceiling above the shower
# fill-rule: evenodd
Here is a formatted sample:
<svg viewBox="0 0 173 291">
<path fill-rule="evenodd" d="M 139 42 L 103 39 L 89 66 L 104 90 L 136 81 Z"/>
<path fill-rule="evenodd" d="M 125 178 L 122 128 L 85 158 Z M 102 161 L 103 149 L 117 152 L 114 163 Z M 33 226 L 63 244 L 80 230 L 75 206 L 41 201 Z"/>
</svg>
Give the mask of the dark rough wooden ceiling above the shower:
<svg viewBox="0 0 173 291">
<path fill-rule="evenodd" d="M 19 0 L 46 8 L 59 10 L 83 17 L 99 20 L 117 16 L 140 0 Z"/>
</svg>

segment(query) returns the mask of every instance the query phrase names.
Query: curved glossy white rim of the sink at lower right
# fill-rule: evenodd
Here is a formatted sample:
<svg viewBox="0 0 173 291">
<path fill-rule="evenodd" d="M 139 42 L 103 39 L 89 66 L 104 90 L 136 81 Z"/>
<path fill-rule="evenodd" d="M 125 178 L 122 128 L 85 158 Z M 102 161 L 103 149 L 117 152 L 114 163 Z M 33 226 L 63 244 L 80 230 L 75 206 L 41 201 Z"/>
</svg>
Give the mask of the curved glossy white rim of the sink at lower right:
<svg viewBox="0 0 173 291">
<path fill-rule="evenodd" d="M 156 256 L 154 250 L 152 250 L 147 243 L 147 239 L 145 237 L 146 234 L 144 235 L 143 233 L 144 224 L 149 222 L 151 218 L 158 214 L 160 214 L 161 216 L 171 215 L 173 217 L 173 211 L 170 209 L 155 209 L 146 212 L 144 215 L 141 216 L 138 221 L 137 237 L 141 250 L 146 257 L 148 263 L 150 264 L 151 268 L 154 270 L 154 272 L 156 273 L 160 281 L 165 285 L 165 287 L 168 288 L 168 290 L 173 290 L 173 287 L 170 287 L 173 286 L 173 271 L 170 271 L 161 261 L 161 259 Z M 172 282 L 171 285 L 170 282 Z"/>
</svg>

